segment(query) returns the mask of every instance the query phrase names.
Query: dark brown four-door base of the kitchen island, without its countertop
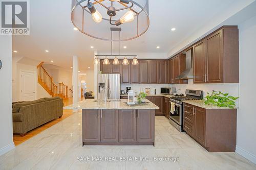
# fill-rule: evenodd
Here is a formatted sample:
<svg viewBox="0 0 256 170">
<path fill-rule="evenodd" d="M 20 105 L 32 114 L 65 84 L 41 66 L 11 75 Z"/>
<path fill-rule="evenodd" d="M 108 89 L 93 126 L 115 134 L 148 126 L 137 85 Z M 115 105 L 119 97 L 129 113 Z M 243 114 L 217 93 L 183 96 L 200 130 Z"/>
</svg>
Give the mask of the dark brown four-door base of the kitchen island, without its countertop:
<svg viewBox="0 0 256 170">
<path fill-rule="evenodd" d="M 155 110 L 82 110 L 83 144 L 153 145 Z"/>
</svg>

